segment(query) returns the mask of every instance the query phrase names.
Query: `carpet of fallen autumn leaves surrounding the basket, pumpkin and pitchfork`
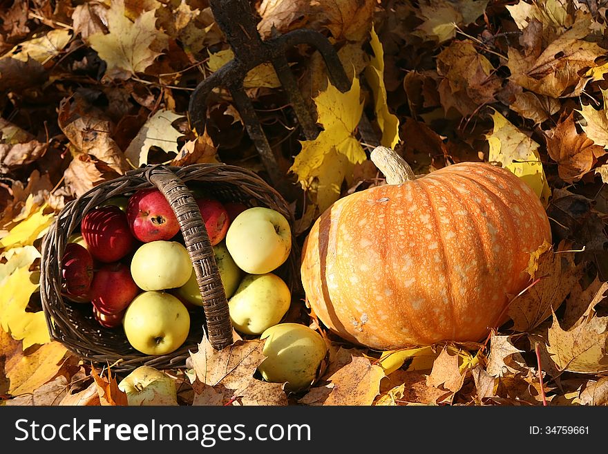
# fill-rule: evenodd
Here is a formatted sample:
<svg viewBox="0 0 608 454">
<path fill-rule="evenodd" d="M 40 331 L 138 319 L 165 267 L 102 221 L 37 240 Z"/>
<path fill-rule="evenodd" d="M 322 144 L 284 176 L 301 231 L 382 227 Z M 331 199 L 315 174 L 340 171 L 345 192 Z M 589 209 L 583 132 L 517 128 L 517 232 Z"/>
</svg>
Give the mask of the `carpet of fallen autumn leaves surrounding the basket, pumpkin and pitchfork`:
<svg viewBox="0 0 608 454">
<path fill-rule="evenodd" d="M 272 68 L 245 86 L 272 144 L 303 240 L 334 200 L 383 184 L 357 125 L 423 174 L 486 160 L 547 208 L 539 251 L 510 321 L 480 343 L 397 352 L 325 332 L 296 295 L 287 318 L 323 332 L 319 381 L 287 395 L 260 381 L 261 342 L 202 341 L 167 370 L 180 405 L 608 403 L 608 30 L 604 0 L 261 0 L 264 37 L 313 28 L 352 78 L 327 84 L 318 53 L 289 50 L 323 131 L 304 140 Z M 372 28 L 373 25 L 373 28 Z M 0 1 L 0 397 L 4 405 L 120 405 L 117 377 L 48 339 L 41 238 L 68 200 L 142 164 L 227 162 L 267 178 L 229 93 L 207 130 L 185 117 L 193 88 L 231 59 L 205 0 Z M 355 77 L 353 77 L 355 76 Z"/>
</svg>

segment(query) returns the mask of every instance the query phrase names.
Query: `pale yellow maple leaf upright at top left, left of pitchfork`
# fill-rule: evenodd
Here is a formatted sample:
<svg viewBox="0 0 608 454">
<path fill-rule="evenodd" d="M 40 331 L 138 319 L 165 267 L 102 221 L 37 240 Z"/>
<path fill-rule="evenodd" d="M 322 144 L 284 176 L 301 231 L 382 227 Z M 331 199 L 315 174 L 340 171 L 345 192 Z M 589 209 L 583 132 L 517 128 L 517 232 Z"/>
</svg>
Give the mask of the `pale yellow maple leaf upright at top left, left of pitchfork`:
<svg viewBox="0 0 608 454">
<path fill-rule="evenodd" d="M 124 0 L 113 0 L 108 10 L 108 34 L 95 33 L 88 37 L 90 46 L 97 51 L 108 68 L 106 76 L 128 79 L 142 73 L 160 52 L 151 49 L 167 47 L 169 37 L 155 26 L 155 11 L 142 13 L 131 22 L 125 15 Z"/>
</svg>

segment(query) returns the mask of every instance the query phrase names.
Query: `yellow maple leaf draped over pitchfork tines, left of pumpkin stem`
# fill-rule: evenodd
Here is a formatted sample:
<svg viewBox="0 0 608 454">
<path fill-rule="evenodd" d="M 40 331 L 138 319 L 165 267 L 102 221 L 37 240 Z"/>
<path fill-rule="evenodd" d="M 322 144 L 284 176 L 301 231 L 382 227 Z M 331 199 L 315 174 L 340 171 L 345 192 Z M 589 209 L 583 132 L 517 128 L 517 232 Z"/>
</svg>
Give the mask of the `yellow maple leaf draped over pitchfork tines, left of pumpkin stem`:
<svg viewBox="0 0 608 454">
<path fill-rule="evenodd" d="M 314 140 L 301 141 L 302 149 L 290 171 L 316 200 L 320 212 L 340 196 L 340 185 L 351 166 L 367 157 L 354 131 L 363 113 L 359 79 L 353 77 L 350 90 L 341 93 L 332 84 L 314 98 L 318 122 L 323 131 Z M 334 173 L 334 176 L 331 175 Z"/>
</svg>

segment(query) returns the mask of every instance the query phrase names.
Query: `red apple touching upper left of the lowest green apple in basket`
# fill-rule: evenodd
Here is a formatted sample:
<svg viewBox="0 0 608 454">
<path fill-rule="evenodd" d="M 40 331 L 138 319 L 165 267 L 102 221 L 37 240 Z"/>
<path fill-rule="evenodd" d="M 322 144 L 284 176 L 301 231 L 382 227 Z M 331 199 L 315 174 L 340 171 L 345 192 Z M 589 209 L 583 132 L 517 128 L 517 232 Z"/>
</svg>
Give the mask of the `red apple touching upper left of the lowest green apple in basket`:
<svg viewBox="0 0 608 454">
<path fill-rule="evenodd" d="M 107 263 L 97 269 L 91 283 L 91 303 L 103 314 L 122 312 L 140 292 L 131 268 L 124 263 Z"/>
</svg>

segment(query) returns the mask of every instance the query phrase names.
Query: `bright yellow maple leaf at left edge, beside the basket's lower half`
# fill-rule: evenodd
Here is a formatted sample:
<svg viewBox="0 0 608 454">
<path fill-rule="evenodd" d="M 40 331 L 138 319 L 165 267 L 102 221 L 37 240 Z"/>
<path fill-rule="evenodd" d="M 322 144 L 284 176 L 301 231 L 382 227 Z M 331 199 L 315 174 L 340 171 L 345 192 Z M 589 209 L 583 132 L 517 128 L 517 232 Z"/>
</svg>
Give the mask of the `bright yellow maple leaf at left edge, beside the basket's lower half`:
<svg viewBox="0 0 608 454">
<path fill-rule="evenodd" d="M 26 312 L 32 293 L 39 289 L 39 272 L 18 268 L 0 285 L 0 327 L 13 339 L 23 339 L 23 349 L 50 341 L 44 312 Z"/>
</svg>

